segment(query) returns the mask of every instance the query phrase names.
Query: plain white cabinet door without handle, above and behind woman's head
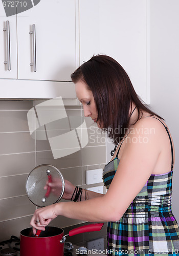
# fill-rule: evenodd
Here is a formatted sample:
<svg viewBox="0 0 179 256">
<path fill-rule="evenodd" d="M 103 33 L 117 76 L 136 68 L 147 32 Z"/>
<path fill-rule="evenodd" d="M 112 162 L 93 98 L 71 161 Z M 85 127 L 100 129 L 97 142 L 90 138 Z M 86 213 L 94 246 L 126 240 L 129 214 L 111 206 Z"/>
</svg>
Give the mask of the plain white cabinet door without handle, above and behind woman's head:
<svg viewBox="0 0 179 256">
<path fill-rule="evenodd" d="M 147 0 L 80 0 L 79 8 L 80 63 L 93 54 L 113 57 L 149 103 Z"/>
</svg>

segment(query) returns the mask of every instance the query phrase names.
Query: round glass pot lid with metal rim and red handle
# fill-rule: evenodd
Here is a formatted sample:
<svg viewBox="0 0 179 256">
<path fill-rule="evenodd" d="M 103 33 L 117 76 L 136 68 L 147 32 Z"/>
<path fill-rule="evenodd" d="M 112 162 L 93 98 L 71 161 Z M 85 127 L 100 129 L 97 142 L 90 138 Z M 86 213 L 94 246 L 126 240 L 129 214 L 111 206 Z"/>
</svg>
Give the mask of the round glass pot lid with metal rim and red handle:
<svg viewBox="0 0 179 256">
<path fill-rule="evenodd" d="M 47 185 L 48 182 L 52 187 Z M 50 164 L 38 165 L 27 177 L 26 193 L 30 201 L 39 207 L 57 203 L 64 193 L 63 176 Z"/>
</svg>

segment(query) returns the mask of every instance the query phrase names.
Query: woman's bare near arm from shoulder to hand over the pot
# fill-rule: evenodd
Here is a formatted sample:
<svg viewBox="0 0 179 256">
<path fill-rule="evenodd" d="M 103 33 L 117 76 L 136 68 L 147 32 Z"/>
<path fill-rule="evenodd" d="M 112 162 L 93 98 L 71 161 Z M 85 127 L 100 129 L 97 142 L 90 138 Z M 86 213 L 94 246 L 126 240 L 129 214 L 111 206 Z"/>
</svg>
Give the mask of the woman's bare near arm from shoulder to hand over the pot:
<svg viewBox="0 0 179 256">
<path fill-rule="evenodd" d="M 117 172 L 104 196 L 82 202 L 61 202 L 38 209 L 31 225 L 43 229 L 58 215 L 91 222 L 118 221 L 146 184 L 162 150 L 158 139 L 161 127 L 158 121 L 151 119 L 138 121 L 138 132 L 128 135 Z M 144 134 L 143 131 L 149 127 L 155 127 L 155 133 Z M 40 220 L 40 224 L 35 224 L 35 220 Z"/>
</svg>

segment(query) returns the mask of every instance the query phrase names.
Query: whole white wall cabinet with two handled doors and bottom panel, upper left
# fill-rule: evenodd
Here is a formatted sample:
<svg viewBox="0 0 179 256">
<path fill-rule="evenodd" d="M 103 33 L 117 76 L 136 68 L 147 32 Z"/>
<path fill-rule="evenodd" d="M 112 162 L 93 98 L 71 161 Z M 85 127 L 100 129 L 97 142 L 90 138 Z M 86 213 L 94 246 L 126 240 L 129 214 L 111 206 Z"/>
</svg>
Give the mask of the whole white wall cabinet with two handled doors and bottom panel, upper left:
<svg viewBox="0 0 179 256">
<path fill-rule="evenodd" d="M 0 16 L 0 99 L 61 96 L 73 99 L 68 101 L 69 104 L 79 104 L 70 77 L 79 65 L 79 57 L 76 57 L 79 56 L 78 2 L 42 0 L 33 8 L 9 17 L 6 17 L 3 5 L 0 8 L 3 14 Z M 3 31 L 6 20 L 10 24 L 11 70 L 4 64 L 7 59 L 7 38 Z M 29 33 L 34 28 L 36 33 Z M 34 55 L 36 70 L 32 66 Z"/>
</svg>

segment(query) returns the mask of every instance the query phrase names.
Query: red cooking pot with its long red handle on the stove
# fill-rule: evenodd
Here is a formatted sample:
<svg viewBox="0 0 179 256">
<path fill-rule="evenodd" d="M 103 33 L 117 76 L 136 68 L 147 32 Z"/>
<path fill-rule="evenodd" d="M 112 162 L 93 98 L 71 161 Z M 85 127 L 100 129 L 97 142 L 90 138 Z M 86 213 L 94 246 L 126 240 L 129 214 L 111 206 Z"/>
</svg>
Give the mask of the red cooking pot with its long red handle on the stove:
<svg viewBox="0 0 179 256">
<path fill-rule="evenodd" d="M 70 230 L 69 236 L 99 231 L 104 223 L 94 223 Z M 32 228 L 20 232 L 20 256 L 62 256 L 65 237 L 64 231 L 58 227 L 46 227 L 39 237 L 35 237 Z"/>
</svg>

